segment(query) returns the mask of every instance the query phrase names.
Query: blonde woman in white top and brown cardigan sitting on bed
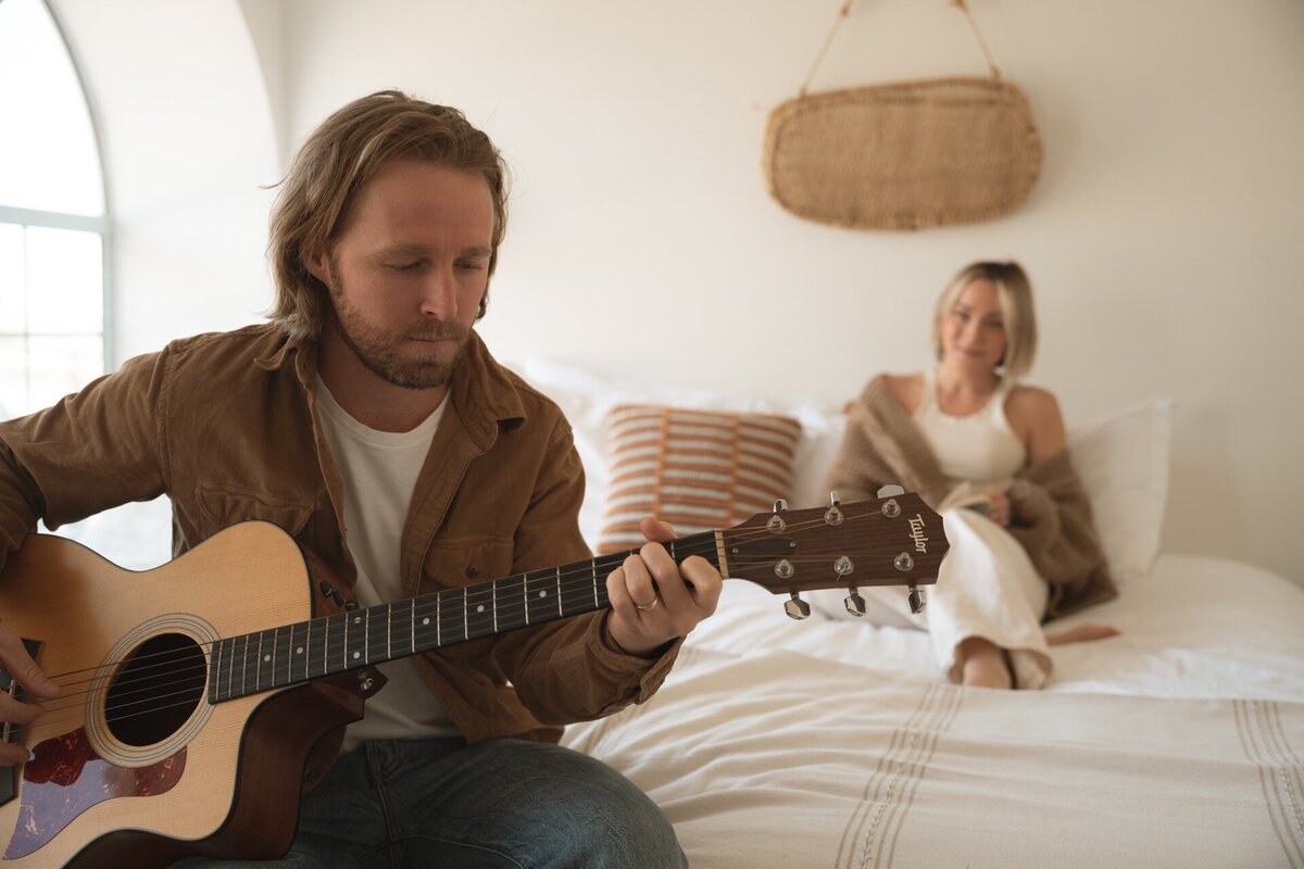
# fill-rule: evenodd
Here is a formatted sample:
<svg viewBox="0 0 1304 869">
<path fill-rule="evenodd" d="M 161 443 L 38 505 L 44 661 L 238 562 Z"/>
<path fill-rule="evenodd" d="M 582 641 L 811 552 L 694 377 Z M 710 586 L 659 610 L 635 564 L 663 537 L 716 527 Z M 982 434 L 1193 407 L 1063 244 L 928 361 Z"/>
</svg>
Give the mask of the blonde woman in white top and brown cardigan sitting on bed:
<svg viewBox="0 0 1304 869">
<path fill-rule="evenodd" d="M 828 487 L 857 500 L 898 483 L 938 509 L 951 551 L 913 620 L 931 632 L 941 671 L 965 685 L 1041 688 L 1050 644 L 1116 633 L 1082 625 L 1048 640 L 1042 623 L 1116 591 L 1055 396 L 1018 382 L 1037 349 L 1024 270 L 962 268 L 938 298 L 932 344 L 934 369 L 879 375 L 849 405 Z M 872 593 L 906 611 L 901 589 Z M 816 606 L 832 610 L 828 597 Z"/>
</svg>

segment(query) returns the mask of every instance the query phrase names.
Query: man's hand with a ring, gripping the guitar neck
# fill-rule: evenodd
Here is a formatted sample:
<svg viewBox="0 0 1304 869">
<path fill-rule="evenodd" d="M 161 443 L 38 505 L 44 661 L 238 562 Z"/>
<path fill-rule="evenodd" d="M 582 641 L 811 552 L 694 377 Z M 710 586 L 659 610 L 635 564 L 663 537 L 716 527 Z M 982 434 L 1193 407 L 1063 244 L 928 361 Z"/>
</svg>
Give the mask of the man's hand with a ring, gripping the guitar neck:
<svg viewBox="0 0 1304 869">
<path fill-rule="evenodd" d="M 691 555 L 675 564 L 661 546 L 674 539 L 674 529 L 651 516 L 639 525 L 649 542 L 606 577 L 612 640 L 631 655 L 647 655 L 716 611 L 720 571 Z"/>
</svg>

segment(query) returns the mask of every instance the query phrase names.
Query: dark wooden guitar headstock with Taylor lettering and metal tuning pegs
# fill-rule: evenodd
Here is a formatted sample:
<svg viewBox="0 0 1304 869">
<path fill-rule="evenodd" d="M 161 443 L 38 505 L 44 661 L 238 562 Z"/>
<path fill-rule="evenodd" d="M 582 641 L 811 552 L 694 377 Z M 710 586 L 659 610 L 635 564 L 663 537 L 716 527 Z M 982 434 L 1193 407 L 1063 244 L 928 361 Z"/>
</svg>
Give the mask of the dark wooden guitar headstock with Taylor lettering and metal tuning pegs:
<svg viewBox="0 0 1304 869">
<path fill-rule="evenodd" d="M 797 597 L 812 589 L 848 589 L 846 606 L 865 612 L 857 588 L 911 586 L 910 605 L 918 608 L 914 586 L 938 581 L 938 569 L 949 543 L 938 516 L 914 492 L 842 504 L 836 495 L 829 507 L 756 513 L 721 533 L 725 575 L 788 594 L 788 614 L 805 618 L 810 606 Z M 857 611 L 858 607 L 858 611 Z"/>
</svg>

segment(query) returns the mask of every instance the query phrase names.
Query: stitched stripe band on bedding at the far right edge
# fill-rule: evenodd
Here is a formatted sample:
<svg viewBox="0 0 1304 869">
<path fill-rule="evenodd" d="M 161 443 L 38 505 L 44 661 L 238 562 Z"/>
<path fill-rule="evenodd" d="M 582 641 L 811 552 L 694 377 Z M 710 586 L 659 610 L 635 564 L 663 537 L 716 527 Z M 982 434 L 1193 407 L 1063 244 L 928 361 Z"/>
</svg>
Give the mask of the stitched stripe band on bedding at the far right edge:
<svg viewBox="0 0 1304 869">
<path fill-rule="evenodd" d="M 1281 705 L 1262 700 L 1237 700 L 1236 730 L 1251 762 L 1258 766 L 1264 803 L 1282 851 L 1292 869 L 1304 868 L 1304 788 L 1299 756 L 1282 724 Z"/>
</svg>

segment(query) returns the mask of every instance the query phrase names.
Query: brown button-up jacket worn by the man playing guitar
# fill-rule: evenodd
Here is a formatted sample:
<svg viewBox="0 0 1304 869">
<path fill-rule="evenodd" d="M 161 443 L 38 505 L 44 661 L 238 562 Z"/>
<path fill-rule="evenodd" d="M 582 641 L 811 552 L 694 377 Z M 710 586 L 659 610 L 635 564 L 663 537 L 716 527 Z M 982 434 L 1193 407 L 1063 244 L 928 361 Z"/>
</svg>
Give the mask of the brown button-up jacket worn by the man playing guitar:
<svg viewBox="0 0 1304 869">
<path fill-rule="evenodd" d="M 175 555 L 267 520 L 351 588 L 316 366 L 312 341 L 250 326 L 173 341 L 47 410 L 0 422 L 0 568 L 38 519 L 57 528 L 167 494 Z M 584 473 L 557 405 L 475 334 L 449 401 L 403 529 L 404 593 L 588 559 L 578 528 Z M 652 661 L 625 654 L 606 615 L 447 646 L 420 655 L 417 668 L 468 741 L 556 741 L 562 724 L 648 698 L 678 651 L 675 642 Z"/>
</svg>

